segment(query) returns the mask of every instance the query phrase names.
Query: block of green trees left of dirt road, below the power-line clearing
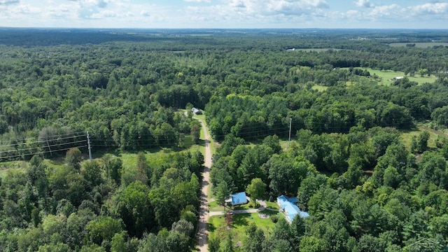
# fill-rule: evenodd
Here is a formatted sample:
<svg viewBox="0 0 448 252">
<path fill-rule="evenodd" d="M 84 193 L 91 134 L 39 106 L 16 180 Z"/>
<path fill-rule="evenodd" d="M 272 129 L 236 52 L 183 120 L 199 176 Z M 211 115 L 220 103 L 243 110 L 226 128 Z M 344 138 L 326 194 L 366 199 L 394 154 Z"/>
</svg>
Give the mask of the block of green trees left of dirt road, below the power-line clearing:
<svg viewBox="0 0 448 252">
<path fill-rule="evenodd" d="M 82 159 L 72 148 L 64 165 L 50 167 L 34 156 L 6 172 L 0 179 L 1 251 L 190 251 L 200 152 L 151 162 L 139 153 L 133 167 L 113 155 Z"/>
</svg>

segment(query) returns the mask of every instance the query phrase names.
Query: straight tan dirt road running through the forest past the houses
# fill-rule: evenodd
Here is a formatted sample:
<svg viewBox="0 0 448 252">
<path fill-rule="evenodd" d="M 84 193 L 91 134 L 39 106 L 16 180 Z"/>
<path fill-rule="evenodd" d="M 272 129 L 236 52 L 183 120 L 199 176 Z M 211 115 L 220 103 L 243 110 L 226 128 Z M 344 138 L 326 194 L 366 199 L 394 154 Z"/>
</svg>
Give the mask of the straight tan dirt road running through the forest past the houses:
<svg viewBox="0 0 448 252">
<path fill-rule="evenodd" d="M 209 134 L 205 127 L 204 121 L 200 120 L 202 124 L 202 130 L 204 130 L 205 141 L 205 157 L 204 157 L 204 172 L 202 173 L 202 189 L 200 197 L 200 209 L 199 209 L 199 223 L 197 227 L 197 251 L 207 252 L 209 246 L 207 244 L 207 222 L 209 221 L 209 202 L 207 200 L 207 191 L 210 184 L 210 167 L 211 167 L 211 148 L 209 141 Z"/>
</svg>

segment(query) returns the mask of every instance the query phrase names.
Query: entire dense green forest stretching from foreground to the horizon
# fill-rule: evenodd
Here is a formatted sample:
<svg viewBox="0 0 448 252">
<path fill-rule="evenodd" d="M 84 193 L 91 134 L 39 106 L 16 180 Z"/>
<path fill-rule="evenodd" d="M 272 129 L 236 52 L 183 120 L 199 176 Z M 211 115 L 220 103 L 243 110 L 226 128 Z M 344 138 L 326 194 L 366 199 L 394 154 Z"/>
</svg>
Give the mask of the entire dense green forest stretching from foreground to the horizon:
<svg viewBox="0 0 448 252">
<path fill-rule="evenodd" d="M 446 34 L 1 29 L 0 251 L 193 250 L 193 106 L 220 143 L 216 195 L 259 179 L 310 215 L 248 227 L 238 247 L 230 232 L 211 251 L 442 251 Z M 416 46 L 434 41 L 447 45 Z M 403 78 L 380 85 L 373 70 Z M 130 169 L 120 153 L 138 153 Z"/>
</svg>

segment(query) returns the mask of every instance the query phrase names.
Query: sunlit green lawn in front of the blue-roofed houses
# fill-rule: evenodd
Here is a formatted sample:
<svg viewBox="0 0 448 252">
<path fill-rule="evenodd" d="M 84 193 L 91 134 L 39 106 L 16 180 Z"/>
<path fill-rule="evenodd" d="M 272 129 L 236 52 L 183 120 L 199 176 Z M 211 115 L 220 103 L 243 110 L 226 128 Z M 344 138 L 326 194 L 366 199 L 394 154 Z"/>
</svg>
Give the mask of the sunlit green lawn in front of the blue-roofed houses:
<svg viewBox="0 0 448 252">
<path fill-rule="evenodd" d="M 261 211 L 262 214 L 268 214 L 270 216 L 279 214 L 278 211 L 270 211 L 265 210 Z M 282 214 L 279 214 L 279 219 L 284 218 Z M 275 223 L 271 221 L 270 218 L 260 218 L 258 216 L 258 213 L 253 214 L 235 214 L 232 216 L 232 224 L 231 224 L 231 230 L 232 234 L 234 235 L 234 241 L 235 243 L 237 241 L 244 242 L 245 236 L 246 236 L 246 228 L 248 225 L 251 225 L 251 223 L 255 223 L 255 225 L 258 226 L 258 228 L 261 228 L 265 233 L 270 232 L 273 228 Z M 224 216 L 212 216 L 209 218 L 209 236 L 210 237 L 221 237 L 222 239 L 227 234 L 227 228 L 225 223 L 225 217 Z"/>
</svg>

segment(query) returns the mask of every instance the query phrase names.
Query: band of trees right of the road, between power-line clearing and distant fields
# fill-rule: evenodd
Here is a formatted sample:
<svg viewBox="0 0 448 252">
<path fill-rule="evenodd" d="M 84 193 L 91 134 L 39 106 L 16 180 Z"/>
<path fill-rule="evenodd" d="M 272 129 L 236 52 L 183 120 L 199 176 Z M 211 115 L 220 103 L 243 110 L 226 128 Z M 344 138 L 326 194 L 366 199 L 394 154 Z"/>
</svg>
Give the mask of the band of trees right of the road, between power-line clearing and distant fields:
<svg viewBox="0 0 448 252">
<path fill-rule="evenodd" d="M 272 134 L 287 137 L 290 124 L 293 133 L 300 129 L 348 133 L 356 126 L 411 129 L 414 120 L 433 120 L 435 127 L 447 127 L 443 111 L 448 88 L 443 83 L 416 85 L 403 78 L 386 87 L 357 78 L 356 85 L 337 85 L 325 92 L 305 87 L 262 96 L 256 91 L 214 95 L 205 109 L 211 134 L 218 140 L 230 133 L 246 140 Z"/>
</svg>

